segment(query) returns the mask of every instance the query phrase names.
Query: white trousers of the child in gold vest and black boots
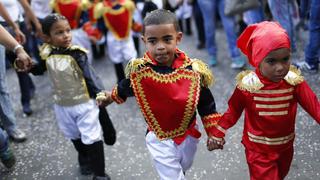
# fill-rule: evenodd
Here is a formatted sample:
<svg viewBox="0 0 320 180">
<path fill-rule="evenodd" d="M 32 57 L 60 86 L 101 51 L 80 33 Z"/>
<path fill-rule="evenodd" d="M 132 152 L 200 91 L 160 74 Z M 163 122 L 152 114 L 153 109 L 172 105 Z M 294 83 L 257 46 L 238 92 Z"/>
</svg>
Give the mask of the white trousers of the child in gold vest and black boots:
<svg viewBox="0 0 320 180">
<path fill-rule="evenodd" d="M 79 139 L 84 144 L 101 140 L 99 109 L 93 100 L 75 106 L 54 104 L 60 130 L 69 139 Z"/>
</svg>

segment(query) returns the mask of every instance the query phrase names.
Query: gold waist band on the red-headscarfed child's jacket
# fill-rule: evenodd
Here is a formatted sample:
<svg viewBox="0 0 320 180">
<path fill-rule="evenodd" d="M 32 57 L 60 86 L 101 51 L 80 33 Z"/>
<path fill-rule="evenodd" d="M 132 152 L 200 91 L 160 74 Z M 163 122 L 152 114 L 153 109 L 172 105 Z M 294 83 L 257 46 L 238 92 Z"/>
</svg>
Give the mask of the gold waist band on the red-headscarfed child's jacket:
<svg viewBox="0 0 320 180">
<path fill-rule="evenodd" d="M 294 139 L 295 134 L 291 133 L 288 136 L 277 137 L 277 138 L 268 138 L 264 136 L 256 136 L 248 132 L 249 140 L 256 143 L 267 144 L 267 145 L 280 145 L 286 144 L 292 139 Z"/>
</svg>

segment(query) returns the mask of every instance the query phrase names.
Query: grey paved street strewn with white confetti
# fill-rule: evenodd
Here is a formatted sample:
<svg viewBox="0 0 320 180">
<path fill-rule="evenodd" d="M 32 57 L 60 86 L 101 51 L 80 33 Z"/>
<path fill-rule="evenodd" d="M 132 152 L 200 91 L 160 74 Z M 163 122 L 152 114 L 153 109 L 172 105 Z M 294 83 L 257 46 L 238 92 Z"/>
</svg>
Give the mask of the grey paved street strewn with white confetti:
<svg viewBox="0 0 320 180">
<path fill-rule="evenodd" d="M 218 66 L 212 68 L 216 84 L 211 87 L 217 109 L 224 112 L 227 100 L 235 87 L 235 76 L 239 71 L 230 68 L 225 34 L 217 31 Z M 298 45 L 303 50 L 306 33 L 301 32 Z M 195 33 L 194 33 L 195 34 Z M 301 40 L 302 39 L 302 40 Z M 195 48 L 195 37 L 184 36 L 180 48 L 190 57 L 206 60 L 206 50 Z M 295 58 L 302 56 L 298 52 Z M 103 79 L 106 89 L 116 82 L 115 72 L 109 60 L 94 61 L 98 75 Z M 320 98 L 320 74 L 305 75 L 311 88 Z M 77 165 L 76 153 L 71 142 L 65 139 L 57 128 L 53 113 L 53 102 L 47 75 L 34 77 L 36 96 L 32 100 L 34 114 L 23 117 L 20 105 L 20 92 L 15 72 L 8 70 L 9 90 L 17 115 L 17 124 L 28 134 L 25 143 L 11 143 L 16 157 L 15 168 L 8 171 L 0 165 L 0 179 L 91 179 L 81 176 Z M 165 107 L 164 107 L 165 108 Z M 153 180 L 158 179 L 152 167 L 151 158 L 145 146 L 146 124 L 134 98 L 123 105 L 112 104 L 108 107 L 112 121 L 117 129 L 117 142 L 105 147 L 106 172 L 114 180 Z M 198 118 L 199 121 L 199 118 Z M 206 135 L 199 121 L 202 137 L 187 179 L 194 180 L 246 180 L 249 179 L 244 148 L 240 143 L 243 118 L 228 131 L 223 151 L 206 150 Z M 295 155 L 287 179 L 320 179 L 320 128 L 319 125 L 299 107 L 296 123 Z"/>
</svg>

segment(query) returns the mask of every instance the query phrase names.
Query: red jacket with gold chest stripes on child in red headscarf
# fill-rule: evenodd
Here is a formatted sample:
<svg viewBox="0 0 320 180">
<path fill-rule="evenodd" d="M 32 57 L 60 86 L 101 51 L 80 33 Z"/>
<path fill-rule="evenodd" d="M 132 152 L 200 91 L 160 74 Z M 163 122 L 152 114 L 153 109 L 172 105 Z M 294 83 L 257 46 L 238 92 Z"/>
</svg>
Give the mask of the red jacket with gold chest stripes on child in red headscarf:
<svg viewBox="0 0 320 180">
<path fill-rule="evenodd" d="M 258 71 L 242 72 L 237 78 L 229 108 L 213 130 L 217 140 L 225 136 L 243 110 L 242 143 L 257 152 L 281 152 L 293 146 L 298 103 L 320 123 L 319 100 L 296 68 L 291 67 L 278 83 Z"/>
</svg>

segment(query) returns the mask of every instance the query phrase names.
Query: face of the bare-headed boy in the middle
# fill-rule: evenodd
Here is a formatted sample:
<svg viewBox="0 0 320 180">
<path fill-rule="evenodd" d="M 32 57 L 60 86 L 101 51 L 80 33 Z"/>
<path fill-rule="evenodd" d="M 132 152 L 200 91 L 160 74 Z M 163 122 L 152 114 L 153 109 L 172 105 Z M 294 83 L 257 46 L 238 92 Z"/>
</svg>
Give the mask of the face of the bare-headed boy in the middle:
<svg viewBox="0 0 320 180">
<path fill-rule="evenodd" d="M 171 66 L 182 33 L 173 24 L 148 25 L 142 40 L 152 58 L 161 66 Z"/>
</svg>

